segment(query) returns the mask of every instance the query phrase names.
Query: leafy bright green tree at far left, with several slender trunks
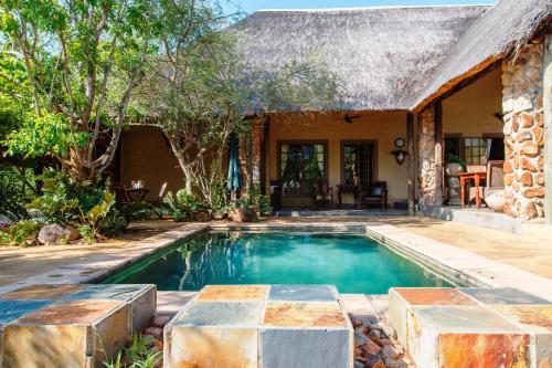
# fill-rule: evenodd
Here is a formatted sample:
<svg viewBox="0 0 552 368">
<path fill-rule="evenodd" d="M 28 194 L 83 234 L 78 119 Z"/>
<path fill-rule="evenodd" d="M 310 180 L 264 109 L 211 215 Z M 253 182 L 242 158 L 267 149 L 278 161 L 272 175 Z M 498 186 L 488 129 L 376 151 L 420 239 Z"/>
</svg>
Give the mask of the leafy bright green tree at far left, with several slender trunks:
<svg viewBox="0 0 552 368">
<path fill-rule="evenodd" d="M 77 180 L 100 175 L 144 78 L 155 9 L 149 0 L 0 0 L 0 91 L 30 107 L 3 143 L 8 154 L 52 155 Z"/>
</svg>

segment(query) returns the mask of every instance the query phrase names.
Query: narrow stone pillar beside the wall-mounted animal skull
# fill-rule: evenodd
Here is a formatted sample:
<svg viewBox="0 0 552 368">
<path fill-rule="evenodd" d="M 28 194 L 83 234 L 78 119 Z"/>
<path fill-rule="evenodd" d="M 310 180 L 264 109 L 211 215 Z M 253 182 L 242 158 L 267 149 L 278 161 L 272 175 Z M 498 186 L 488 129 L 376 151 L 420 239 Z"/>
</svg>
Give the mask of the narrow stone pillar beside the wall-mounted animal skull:
<svg viewBox="0 0 552 368">
<path fill-rule="evenodd" d="M 420 204 L 435 204 L 435 107 L 418 117 Z"/>
</svg>

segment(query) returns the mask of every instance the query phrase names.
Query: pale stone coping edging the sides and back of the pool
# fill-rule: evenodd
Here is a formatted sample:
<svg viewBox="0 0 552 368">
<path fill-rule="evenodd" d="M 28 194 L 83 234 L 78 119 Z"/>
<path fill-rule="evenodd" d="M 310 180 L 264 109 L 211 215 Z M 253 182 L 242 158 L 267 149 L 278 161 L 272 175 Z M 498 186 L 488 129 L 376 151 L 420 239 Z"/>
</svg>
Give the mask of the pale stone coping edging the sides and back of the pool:
<svg viewBox="0 0 552 368">
<path fill-rule="evenodd" d="M 382 222 L 298 222 L 298 223 L 205 223 L 185 224 L 120 248 L 118 254 L 98 254 L 32 277 L 0 286 L 0 293 L 33 284 L 85 284 L 141 261 L 177 241 L 211 230 L 330 230 L 361 231 L 396 253 L 439 275 L 477 286 L 516 287 L 552 301 L 552 280 L 487 259 L 457 246 L 422 236 Z"/>
</svg>

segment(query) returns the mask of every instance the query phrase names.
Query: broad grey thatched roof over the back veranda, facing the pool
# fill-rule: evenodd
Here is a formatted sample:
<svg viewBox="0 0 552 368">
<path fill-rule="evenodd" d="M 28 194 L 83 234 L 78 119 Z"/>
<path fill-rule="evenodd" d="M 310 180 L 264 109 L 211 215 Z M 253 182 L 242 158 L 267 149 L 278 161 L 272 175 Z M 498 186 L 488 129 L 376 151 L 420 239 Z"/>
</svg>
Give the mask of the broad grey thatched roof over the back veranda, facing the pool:
<svg viewBox="0 0 552 368">
<path fill-rule="evenodd" d="M 270 10 L 257 11 L 235 28 L 248 35 L 245 57 L 256 67 L 270 71 L 320 55 L 346 87 L 346 105 L 339 109 L 410 109 L 488 8 Z"/>
</svg>

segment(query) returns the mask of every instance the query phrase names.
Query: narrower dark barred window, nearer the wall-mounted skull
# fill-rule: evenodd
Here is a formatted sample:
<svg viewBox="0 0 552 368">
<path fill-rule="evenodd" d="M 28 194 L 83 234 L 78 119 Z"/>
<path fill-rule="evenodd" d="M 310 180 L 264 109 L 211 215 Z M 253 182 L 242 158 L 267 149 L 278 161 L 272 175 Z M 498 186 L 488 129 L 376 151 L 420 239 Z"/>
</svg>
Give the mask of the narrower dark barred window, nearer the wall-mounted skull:
<svg viewBox="0 0 552 368">
<path fill-rule="evenodd" d="M 375 179 L 375 141 L 344 141 L 341 144 L 343 185 L 367 187 Z"/>
</svg>

